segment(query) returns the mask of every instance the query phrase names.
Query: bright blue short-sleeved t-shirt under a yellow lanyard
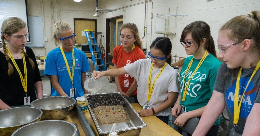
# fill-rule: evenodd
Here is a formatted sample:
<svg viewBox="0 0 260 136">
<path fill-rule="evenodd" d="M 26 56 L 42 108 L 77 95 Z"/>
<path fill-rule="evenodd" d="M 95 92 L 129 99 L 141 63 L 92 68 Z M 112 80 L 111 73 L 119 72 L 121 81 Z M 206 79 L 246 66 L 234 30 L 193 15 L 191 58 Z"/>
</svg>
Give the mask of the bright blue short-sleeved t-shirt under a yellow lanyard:
<svg viewBox="0 0 260 136">
<path fill-rule="evenodd" d="M 64 52 L 66 59 L 69 64 L 70 72 L 72 74 L 72 51 Z M 87 72 L 90 70 L 90 66 L 87 61 L 86 54 L 74 48 L 74 56 L 75 56 L 75 69 L 74 69 L 74 77 L 73 77 L 73 88 L 76 88 L 75 97 L 76 99 L 79 96 L 84 95 L 84 90 L 81 86 L 81 73 Z M 46 64 L 44 75 L 56 75 L 58 76 L 59 84 L 64 92 L 70 96 L 70 89 L 72 88 L 72 82 L 69 77 L 69 73 L 63 59 L 60 48 L 53 49 L 47 54 Z M 51 94 L 53 96 L 59 96 L 58 92 L 54 88 L 51 90 Z"/>
</svg>

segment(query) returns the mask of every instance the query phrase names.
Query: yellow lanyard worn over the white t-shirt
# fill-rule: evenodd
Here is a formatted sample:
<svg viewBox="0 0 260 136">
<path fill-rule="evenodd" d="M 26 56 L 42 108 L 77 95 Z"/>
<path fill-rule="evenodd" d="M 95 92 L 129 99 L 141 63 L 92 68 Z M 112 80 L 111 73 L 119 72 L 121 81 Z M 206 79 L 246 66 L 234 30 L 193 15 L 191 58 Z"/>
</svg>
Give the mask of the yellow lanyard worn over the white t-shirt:
<svg viewBox="0 0 260 136">
<path fill-rule="evenodd" d="M 151 77 L 152 77 L 152 72 L 153 72 L 153 62 L 152 62 L 152 65 L 151 65 L 151 68 L 150 68 L 149 77 L 148 77 L 148 98 L 147 98 L 147 103 L 151 99 L 151 96 L 152 96 L 152 93 L 153 93 L 153 89 L 154 89 L 154 84 L 155 84 L 156 80 L 159 78 L 159 76 L 161 75 L 162 71 L 165 69 L 166 66 L 167 66 L 167 63 L 165 62 L 164 66 L 161 68 L 160 72 L 155 77 L 155 79 L 153 81 L 152 88 L 151 88 Z"/>
</svg>

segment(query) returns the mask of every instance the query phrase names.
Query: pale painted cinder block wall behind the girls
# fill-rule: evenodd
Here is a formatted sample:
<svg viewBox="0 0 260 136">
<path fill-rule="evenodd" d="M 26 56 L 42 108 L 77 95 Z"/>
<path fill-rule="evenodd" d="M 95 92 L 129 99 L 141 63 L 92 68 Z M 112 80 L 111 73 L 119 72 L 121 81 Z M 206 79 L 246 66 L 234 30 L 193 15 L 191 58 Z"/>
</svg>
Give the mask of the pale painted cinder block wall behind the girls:
<svg viewBox="0 0 260 136">
<path fill-rule="evenodd" d="M 106 18 L 123 15 L 123 22 L 133 22 L 138 26 L 140 37 L 144 36 L 144 25 L 147 27 L 145 37 L 142 39 L 144 47 L 149 51 L 151 42 L 158 36 L 166 36 L 171 39 L 172 53 L 177 56 L 187 57 L 184 48 L 180 44 L 180 36 L 183 28 L 193 21 L 205 21 L 211 27 L 211 34 L 217 47 L 219 28 L 229 19 L 238 15 L 249 14 L 260 7 L 259 0 L 147 0 L 145 15 L 145 0 L 99 0 L 98 9 L 117 9 L 113 12 L 99 12 L 100 17 L 94 17 L 95 1 L 82 0 L 27 0 L 29 16 L 43 16 L 44 34 L 48 38 L 46 48 L 32 48 L 36 55 L 42 56 L 56 48 L 52 40 L 53 25 L 55 22 L 68 22 L 74 26 L 73 18 L 97 19 L 97 31 L 106 33 Z M 43 11 L 43 12 L 42 12 Z M 187 16 L 170 16 L 169 30 L 176 30 L 176 35 L 164 35 L 155 33 L 158 25 L 157 15 L 178 14 Z M 177 19 L 177 21 L 175 21 Z M 173 21 L 172 21 L 173 20 Z M 106 37 L 102 37 L 103 46 Z M 217 53 L 218 49 L 216 48 Z"/>
</svg>

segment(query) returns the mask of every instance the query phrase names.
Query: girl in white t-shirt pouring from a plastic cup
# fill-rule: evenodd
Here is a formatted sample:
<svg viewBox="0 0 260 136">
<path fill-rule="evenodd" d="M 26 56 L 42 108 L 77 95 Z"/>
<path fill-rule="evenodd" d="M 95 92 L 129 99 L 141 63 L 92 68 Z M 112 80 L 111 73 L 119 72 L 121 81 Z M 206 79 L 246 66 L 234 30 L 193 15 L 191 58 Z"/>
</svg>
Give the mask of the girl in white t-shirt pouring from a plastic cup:
<svg viewBox="0 0 260 136">
<path fill-rule="evenodd" d="M 138 114 L 146 117 L 155 115 L 168 124 L 170 107 L 173 106 L 178 92 L 178 74 L 166 63 L 171 57 L 172 44 L 167 37 L 157 37 L 150 49 L 150 59 L 137 60 L 119 69 L 93 71 L 92 77 L 98 79 L 101 76 L 123 74 L 134 77 L 138 85 L 138 102 L 144 107 Z"/>
</svg>

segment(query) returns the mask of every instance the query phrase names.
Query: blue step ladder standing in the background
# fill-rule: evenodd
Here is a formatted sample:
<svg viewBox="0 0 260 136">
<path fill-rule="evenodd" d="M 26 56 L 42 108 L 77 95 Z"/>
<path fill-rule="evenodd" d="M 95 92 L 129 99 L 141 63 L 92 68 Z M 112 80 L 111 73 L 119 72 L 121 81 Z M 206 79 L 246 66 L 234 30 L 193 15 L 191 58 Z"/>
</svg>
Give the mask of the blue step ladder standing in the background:
<svg viewBox="0 0 260 136">
<path fill-rule="evenodd" d="M 105 64 L 104 64 L 104 62 L 103 62 L 102 56 L 101 56 L 100 51 L 99 51 L 99 48 L 98 48 L 98 46 L 97 46 L 96 39 L 95 39 L 94 34 L 93 34 L 93 31 L 92 31 L 92 30 L 89 30 L 89 29 L 85 29 L 84 31 L 85 31 L 85 34 L 86 34 L 86 37 L 87 37 L 88 46 L 89 46 L 90 54 L 91 54 L 91 56 L 92 56 L 93 64 L 95 64 L 97 60 L 100 61 L 100 64 L 97 65 L 97 67 L 96 67 L 95 70 L 96 70 L 96 71 L 99 71 L 99 67 L 101 67 L 103 70 L 106 70 Z M 91 36 L 91 37 L 89 37 L 88 32 L 90 33 L 90 36 Z M 90 40 L 93 41 L 93 44 L 91 43 Z M 92 45 L 94 45 L 95 51 L 93 51 Z M 94 53 L 97 53 L 97 58 L 95 58 Z"/>
</svg>

